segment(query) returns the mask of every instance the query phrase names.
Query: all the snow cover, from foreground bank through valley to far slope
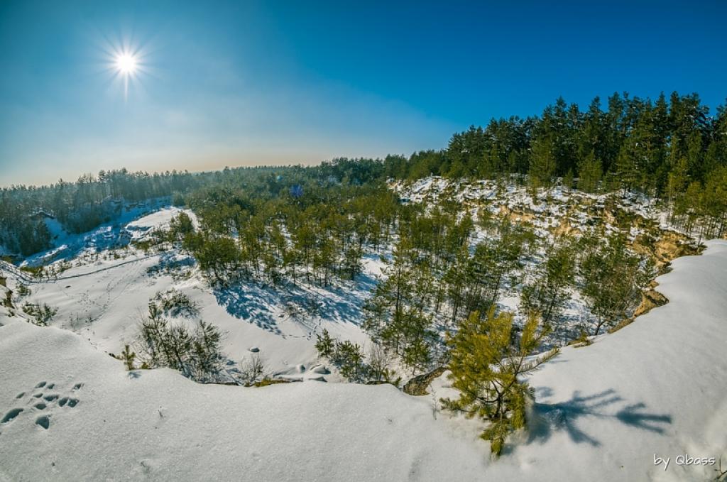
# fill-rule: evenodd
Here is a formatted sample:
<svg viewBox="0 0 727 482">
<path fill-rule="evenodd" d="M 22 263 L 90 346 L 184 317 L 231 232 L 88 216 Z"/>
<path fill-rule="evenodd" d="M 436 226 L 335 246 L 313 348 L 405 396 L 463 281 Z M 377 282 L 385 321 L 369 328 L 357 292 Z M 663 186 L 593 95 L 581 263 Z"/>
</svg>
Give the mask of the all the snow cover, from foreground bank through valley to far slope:
<svg viewBox="0 0 727 482">
<path fill-rule="evenodd" d="M 513 312 L 516 326 L 527 318 L 523 289 L 558 239 L 625 230 L 630 251 L 660 275 L 630 318 L 595 337 L 589 305 L 576 285 L 567 290 L 559 329 L 539 350 L 561 352 L 527 375 L 529 425 L 494 459 L 478 437 L 482 422 L 441 403 L 457 397 L 449 371 L 426 377 L 425 395 L 401 391 L 435 360 L 412 371 L 390 356 L 399 388 L 365 385 L 347 382 L 317 346 L 325 330 L 371 357 L 365 307 L 392 273 L 401 236 L 365 249 L 353 279 L 322 284 L 314 273 L 281 289 L 212 282 L 183 244 L 159 241 L 180 213 L 201 226 L 195 212 L 163 199 L 81 235 L 47 220 L 54 246 L 0 267 L 0 480 L 680 481 L 714 478 L 719 457 L 727 465 L 727 241 L 707 241 L 699 254 L 696 234 L 632 193 L 441 177 L 389 188 L 404 206 L 431 212 L 449 202 L 458 222 L 481 220 L 470 249 L 502 236 L 491 219 L 531 230 L 534 247 L 497 293 L 497 310 Z M 654 291 L 663 301 L 650 305 Z M 217 383 L 122 361 L 139 346 L 150 302 L 179 293 L 193 311 L 171 315 L 176 323 L 201 319 L 223 334 Z M 45 322 L 25 306 L 47 306 Z M 427 310 L 446 337 L 449 302 Z M 262 363 L 254 381 L 272 386 L 241 386 L 252 361 Z M 713 460 L 677 465 L 680 454 Z"/>
</svg>

